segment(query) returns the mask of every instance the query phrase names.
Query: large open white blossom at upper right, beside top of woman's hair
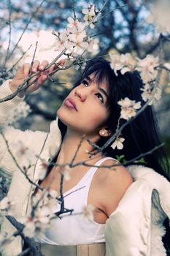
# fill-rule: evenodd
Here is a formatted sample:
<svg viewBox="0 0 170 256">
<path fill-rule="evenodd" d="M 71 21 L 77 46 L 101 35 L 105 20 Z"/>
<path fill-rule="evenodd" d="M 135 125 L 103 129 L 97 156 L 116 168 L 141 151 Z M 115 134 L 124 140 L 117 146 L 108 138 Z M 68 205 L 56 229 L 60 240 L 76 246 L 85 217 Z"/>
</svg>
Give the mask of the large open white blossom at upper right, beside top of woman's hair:
<svg viewBox="0 0 170 256">
<path fill-rule="evenodd" d="M 157 75 L 155 67 L 158 67 L 158 57 L 147 55 L 146 58 L 137 60 L 138 63 L 136 69 L 139 70 L 144 83 L 154 80 Z"/>
</svg>

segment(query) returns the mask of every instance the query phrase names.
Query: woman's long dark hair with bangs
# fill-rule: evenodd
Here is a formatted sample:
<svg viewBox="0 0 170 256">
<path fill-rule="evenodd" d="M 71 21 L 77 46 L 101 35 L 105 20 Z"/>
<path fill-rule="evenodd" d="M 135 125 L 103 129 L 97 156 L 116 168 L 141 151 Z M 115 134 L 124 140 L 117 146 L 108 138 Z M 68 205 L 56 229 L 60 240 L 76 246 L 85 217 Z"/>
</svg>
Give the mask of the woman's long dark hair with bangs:
<svg viewBox="0 0 170 256">
<path fill-rule="evenodd" d="M 125 72 L 124 75 L 120 71 L 115 72 L 111 69 L 109 61 L 101 58 L 95 58 L 88 61 L 84 72 L 80 80 L 75 83 L 75 87 L 79 86 L 84 78 L 87 78 L 90 74 L 95 74 L 95 80 L 98 84 L 107 83 L 109 101 L 107 108 L 109 108 L 110 115 L 107 119 L 106 126 L 112 130 L 112 134 L 115 133 L 117 128 L 117 121 L 120 117 L 120 105 L 117 102 L 120 99 L 128 97 L 136 102 L 141 102 L 144 105 L 145 102 L 142 99 L 142 87 L 144 86 L 139 72 Z M 123 118 L 120 118 L 120 127 L 125 123 Z M 58 127 L 61 129 L 62 139 L 66 133 L 66 125 L 58 118 Z M 110 145 L 104 149 L 103 153 L 106 156 L 116 157 L 117 155 L 124 155 L 125 160 L 131 160 L 139 156 L 142 153 L 150 151 L 155 146 L 161 144 L 160 135 L 158 130 L 158 124 L 155 116 L 155 112 L 151 105 L 147 105 L 142 113 L 139 114 L 133 121 L 131 121 L 122 131 L 122 137 L 125 138 L 123 143 L 123 149 L 113 150 Z M 96 143 L 98 146 L 103 146 L 108 138 L 101 137 Z M 169 162 L 166 157 L 163 147 L 152 151 L 152 154 L 144 156 L 145 166 L 151 167 L 157 173 L 165 176 L 169 181 Z M 133 163 L 135 164 L 135 163 Z M 163 238 L 163 243 L 166 246 L 166 238 Z"/>
</svg>

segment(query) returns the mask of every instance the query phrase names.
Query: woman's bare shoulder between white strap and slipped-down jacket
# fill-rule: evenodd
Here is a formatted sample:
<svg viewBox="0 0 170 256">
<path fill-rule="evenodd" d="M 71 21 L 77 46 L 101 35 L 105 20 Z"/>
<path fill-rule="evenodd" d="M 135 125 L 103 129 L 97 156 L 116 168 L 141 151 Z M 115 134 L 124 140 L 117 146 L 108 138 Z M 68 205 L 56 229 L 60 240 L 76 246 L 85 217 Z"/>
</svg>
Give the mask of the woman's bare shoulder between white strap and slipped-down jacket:
<svg viewBox="0 0 170 256">
<path fill-rule="evenodd" d="M 100 168 L 97 180 L 101 188 L 101 198 L 103 198 L 101 200 L 102 208 L 109 217 L 117 208 L 125 191 L 133 183 L 133 178 L 128 170 L 114 159 L 108 159 L 102 165 L 106 167 Z"/>
</svg>

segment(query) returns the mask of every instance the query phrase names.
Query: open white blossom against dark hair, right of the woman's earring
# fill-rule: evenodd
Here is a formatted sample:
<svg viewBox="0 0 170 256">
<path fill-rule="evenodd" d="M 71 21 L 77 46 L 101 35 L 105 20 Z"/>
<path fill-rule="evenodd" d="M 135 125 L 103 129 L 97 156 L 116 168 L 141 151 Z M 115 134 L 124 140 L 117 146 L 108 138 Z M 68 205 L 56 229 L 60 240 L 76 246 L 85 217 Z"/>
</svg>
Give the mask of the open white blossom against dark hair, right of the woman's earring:
<svg viewBox="0 0 170 256">
<path fill-rule="evenodd" d="M 135 100 L 128 99 L 128 97 L 120 99 L 117 104 L 121 106 L 120 118 L 125 120 L 135 116 L 136 110 L 141 108 L 141 102 L 135 102 Z"/>
</svg>

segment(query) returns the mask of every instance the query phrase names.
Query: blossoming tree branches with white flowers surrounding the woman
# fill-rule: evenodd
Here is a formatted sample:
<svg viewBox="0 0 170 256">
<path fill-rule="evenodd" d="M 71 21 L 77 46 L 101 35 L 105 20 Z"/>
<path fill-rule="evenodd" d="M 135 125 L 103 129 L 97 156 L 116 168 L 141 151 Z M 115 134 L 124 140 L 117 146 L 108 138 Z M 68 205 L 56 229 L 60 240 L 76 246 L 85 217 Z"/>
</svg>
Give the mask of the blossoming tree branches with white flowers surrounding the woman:
<svg viewBox="0 0 170 256">
<path fill-rule="evenodd" d="M 77 18 L 75 9 L 73 7 L 73 15 L 67 18 L 65 29 L 62 31 L 53 31 L 53 35 L 55 37 L 55 50 L 60 53 L 47 66 L 46 70 L 50 67 L 53 67 L 53 65 L 58 62 L 58 59 L 63 58 L 63 56 L 66 60 L 63 63 L 58 62 L 57 69 L 51 69 L 51 71 L 47 73 L 47 77 L 50 80 L 53 81 L 52 75 L 59 70 L 64 72 L 64 70 L 69 69 L 70 67 L 79 69 L 83 67 L 87 61 L 89 61 L 86 53 L 88 50 L 93 48 L 93 40 L 95 38 L 93 37 L 93 29 L 95 29 L 97 26 L 98 20 L 104 18 L 104 15 L 102 16 L 102 12 L 106 4 L 107 1 L 105 1 L 104 5 L 100 8 L 96 7 L 94 4 L 89 4 L 87 8 L 82 9 L 82 14 L 84 15 L 82 20 Z M 145 105 L 142 106 L 141 102 L 135 102 L 133 99 L 129 99 L 128 97 L 120 99 L 117 102 L 117 105 L 120 106 L 119 121 L 120 119 L 124 119 L 125 123 L 121 127 L 118 122 L 115 135 L 112 135 L 112 137 L 109 138 L 107 143 L 102 148 L 98 148 L 98 146 L 92 143 L 93 146 L 96 146 L 98 150 L 104 150 L 104 148 L 106 148 L 109 143 L 112 143 L 112 148 L 119 149 L 121 154 L 121 149 L 123 148 L 123 143 L 125 141 L 122 132 L 123 127 L 125 127 L 125 125 L 136 118 L 136 116 L 138 116 L 144 110 L 144 108 L 146 108 L 147 105 L 152 105 L 154 102 L 161 99 L 161 72 L 163 69 L 165 69 L 167 72 L 170 72 L 170 64 L 164 61 L 163 58 L 162 45 L 163 40 L 169 41 L 169 12 L 162 15 L 161 10 L 164 11 L 167 9 L 164 4 L 158 3 L 158 5 L 151 8 L 152 15 L 150 15 L 150 17 L 148 17 L 146 20 L 146 23 L 156 23 L 159 41 L 159 56 L 155 57 L 152 55 L 147 55 L 143 59 L 140 59 L 137 56 L 133 56 L 131 53 L 119 54 L 112 53 L 112 51 L 110 51 L 107 54 L 107 57 L 110 61 L 110 67 L 115 72 L 115 75 L 118 75 L 117 71 L 120 71 L 121 74 L 125 74 L 125 72 L 128 71 L 133 71 L 134 69 L 140 72 L 141 78 L 144 81 L 144 87 L 141 89 L 141 94 Z M 34 72 L 34 70 L 32 71 L 33 72 L 31 72 L 31 74 L 24 79 L 23 83 L 20 83 L 18 89 L 7 97 L 1 98 L 0 103 L 13 99 L 18 93 L 22 94 L 22 91 L 27 90 L 31 92 L 31 85 L 34 84 L 36 80 L 38 80 L 39 73 L 41 72 Z M 43 72 L 45 72 L 45 70 L 43 70 Z M 17 115 L 16 111 L 18 111 Z M 15 116 L 23 115 L 23 113 L 23 116 L 25 116 L 25 113 L 28 111 L 28 106 L 26 103 L 23 103 L 23 107 L 20 107 L 18 110 L 11 112 L 9 120 L 15 118 Z M 9 120 L 4 122 L 4 127 L 7 126 Z M 23 173 L 28 181 L 36 187 L 37 193 L 34 197 L 31 198 L 32 207 L 29 214 L 26 215 L 26 217 L 19 217 L 17 220 L 12 217 L 13 202 L 10 202 L 7 196 L 4 197 L 0 201 L 0 219 L 7 217 L 12 225 L 15 225 L 15 227 L 18 229 L 18 233 L 14 233 L 13 236 L 22 236 L 22 238 L 27 241 L 31 251 L 33 251 L 36 255 L 34 240 L 32 239 L 34 238 L 35 234 L 44 233 L 47 228 L 53 225 L 54 219 L 56 217 L 60 217 L 61 214 L 66 212 L 74 214 L 74 209 L 64 208 L 62 189 L 61 195 L 58 196 L 55 190 L 49 188 L 42 189 L 38 184 L 34 184 L 34 182 L 31 181 L 31 178 L 28 176 L 28 170 L 31 165 L 34 165 L 37 159 L 39 162 L 41 162 L 39 177 L 40 179 L 43 179 L 47 174 L 48 162 L 45 162 L 45 159 L 39 159 L 39 156 L 36 156 L 34 151 L 30 151 L 20 141 L 13 145 L 9 145 L 3 133 L 4 127 L 1 127 L 1 136 L 4 138 L 4 142 L 7 144 L 9 154 L 11 154 L 20 172 Z M 155 150 L 155 148 L 152 148 L 152 150 Z M 24 159 L 24 165 L 18 165 L 18 159 L 22 158 Z M 67 181 L 71 178 L 69 173 L 71 167 L 72 166 L 68 164 L 60 166 L 61 188 L 63 179 Z M 3 190 L 3 178 L 1 178 L 0 182 L 1 189 Z M 49 215 L 49 212 L 53 209 L 55 209 L 55 214 Z M 80 212 L 80 214 L 85 219 L 93 219 L 93 209 L 93 206 L 89 205 L 85 208 L 82 208 L 82 212 Z M 13 236 L 9 236 L 8 234 L 5 234 L 5 236 L 0 236 L 1 249 L 3 249 L 3 245 L 12 241 Z"/>
</svg>

